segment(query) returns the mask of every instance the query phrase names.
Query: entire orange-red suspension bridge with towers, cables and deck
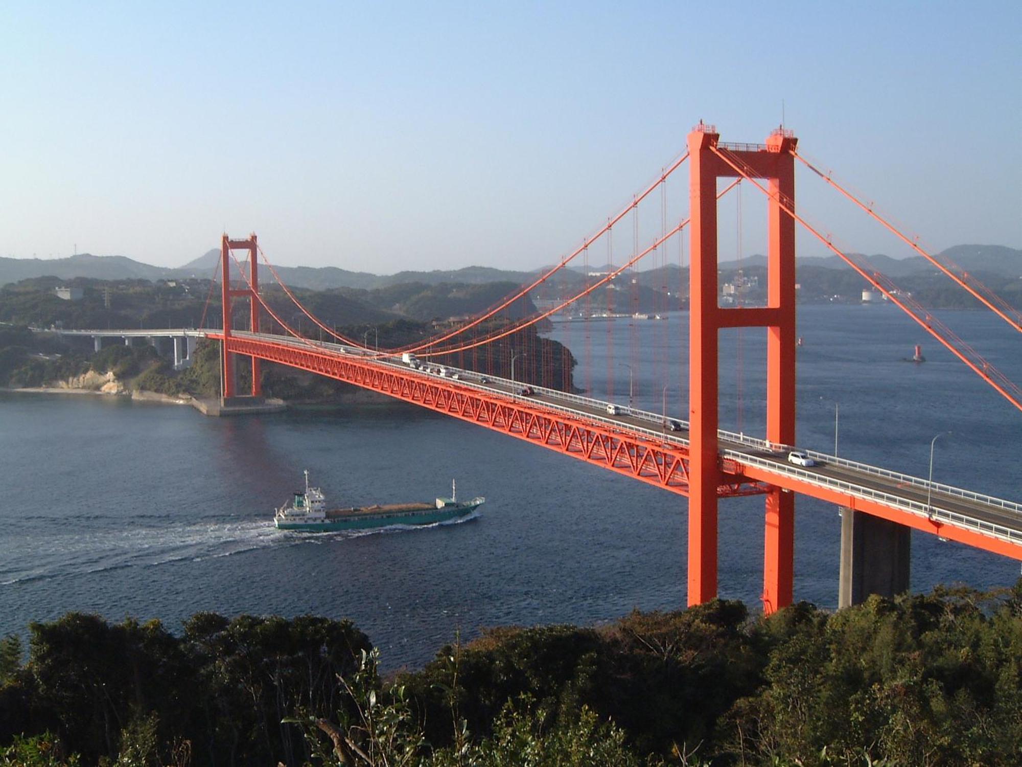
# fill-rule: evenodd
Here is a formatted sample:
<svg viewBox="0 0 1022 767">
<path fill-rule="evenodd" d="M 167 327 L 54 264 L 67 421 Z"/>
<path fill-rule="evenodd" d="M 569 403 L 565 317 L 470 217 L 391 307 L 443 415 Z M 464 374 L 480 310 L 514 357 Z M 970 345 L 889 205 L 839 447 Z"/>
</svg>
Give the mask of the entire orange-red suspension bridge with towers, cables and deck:
<svg viewBox="0 0 1022 767">
<path fill-rule="evenodd" d="M 667 180 L 686 162 L 689 167 L 688 215 L 677 225 L 668 226 Z M 768 612 L 791 603 L 793 598 L 796 494 L 846 509 L 842 523 L 839 600 L 842 604 L 858 601 L 870 592 L 894 593 L 908 588 L 908 535 L 911 529 L 1022 559 L 1022 504 L 814 451 L 805 452 L 815 465 L 789 462 L 788 452 L 796 445 L 796 225 L 804 227 L 847 262 L 868 283 L 992 387 L 1009 406 L 1022 410 L 1022 391 L 1013 381 L 889 278 L 865 261 L 839 250 L 831 238 L 796 211 L 796 162 L 835 187 L 1012 328 L 1022 332 L 1022 314 L 1018 310 L 974 275 L 931 256 L 917 239 L 907 236 L 876 213 L 872 204 L 864 202 L 838 184 L 831 174 L 806 161 L 798 152 L 797 139 L 791 132 L 779 129 L 764 144 L 729 144 L 719 140 L 713 127 L 703 124 L 689 134 L 687 151 L 683 155 L 666 166 L 623 210 L 609 218 L 606 225 L 587 237 L 556 266 L 485 312 L 440 330 L 432 337 L 397 349 L 379 349 L 378 344 L 369 345 L 367 337 L 360 343 L 359 339 L 337 333 L 309 312 L 284 284 L 260 249 L 254 234 L 245 239 L 224 235 L 218 265 L 222 328 L 189 332 L 221 343 L 223 394 L 228 402 L 239 399 L 235 375 L 238 356 L 250 358 L 251 389 L 246 395 L 250 397 L 262 395 L 261 364 L 265 360 L 370 389 L 688 496 L 690 604 L 704 602 L 716 595 L 717 504 L 721 498 L 734 496 L 764 496 L 762 600 Z M 726 180 L 723 187 L 718 179 Z M 719 306 L 717 204 L 739 184 L 754 187 L 766 202 L 768 288 L 766 305 L 762 307 Z M 660 230 L 648 246 L 641 247 L 640 206 L 650 205 L 657 195 L 660 197 Z M 629 218 L 631 222 L 625 221 Z M 629 223 L 633 228 L 633 246 L 623 263 L 615 266 L 614 227 L 617 226 L 619 232 Z M 569 365 L 560 386 L 554 381 L 556 376 L 551 371 L 543 377 L 548 386 L 523 387 L 515 380 L 517 355 L 511 359 L 510 377 L 483 374 L 485 371 L 477 364 L 477 354 L 490 354 L 507 340 L 520 339 L 529 332 L 535 334 L 536 328 L 541 327 L 539 323 L 558 313 L 573 309 L 592 316 L 589 302 L 596 291 L 612 296 L 614 290 L 606 288 L 619 284 L 620 281 L 613 281 L 621 275 L 625 275 L 623 281 L 628 281 L 636 265 L 647 257 L 659 258 L 660 264 L 665 264 L 668 241 L 680 242 L 685 229 L 689 230 L 691 261 L 688 418 L 668 418 L 665 407 L 660 413 L 632 407 L 631 398 L 629 407 L 619 407 L 576 394 L 570 386 Z M 555 294 L 552 285 L 562 270 L 579 259 L 589 267 L 591 255 L 601 239 L 606 242 L 607 266 L 590 272 L 585 287 L 569 290 L 566 297 L 549 298 Z M 247 264 L 234 258 L 236 251 L 247 253 Z M 261 258 L 300 316 L 333 341 L 305 337 L 285 321 L 281 312 L 267 303 L 260 287 Z M 240 282 L 232 283 L 232 261 L 240 270 Z M 632 306 L 636 308 L 634 286 L 637 280 L 633 278 L 631 284 Z M 660 295 L 662 298 L 662 291 Z M 542 302 L 544 308 L 509 319 L 509 308 L 520 306 L 528 297 L 546 298 Z M 244 299 L 249 302 L 248 322 L 247 327 L 239 329 L 234 326 L 233 302 Z M 608 306 L 608 311 L 610 309 Z M 272 319 L 270 324 L 274 332 L 262 330 L 262 320 L 267 317 Z M 762 439 L 722 430 L 718 422 L 721 331 L 742 327 L 766 329 L 765 434 Z M 123 334 L 112 330 L 80 332 Z M 184 334 L 186 331 L 133 332 Z M 448 364 L 450 360 L 464 360 L 466 353 L 471 353 L 470 359 L 476 364 Z M 533 360 L 536 356 L 532 355 Z M 539 356 L 541 366 L 553 367 L 546 350 Z M 413 360 L 421 360 L 423 364 L 409 364 Z M 445 361 L 443 375 L 431 360 Z M 628 367 L 631 374 L 633 364 L 618 364 Z M 662 364 L 665 365 L 665 361 Z M 1008 414 L 1008 417 L 1014 415 Z M 884 575 L 878 576 L 878 573 Z"/>
</svg>

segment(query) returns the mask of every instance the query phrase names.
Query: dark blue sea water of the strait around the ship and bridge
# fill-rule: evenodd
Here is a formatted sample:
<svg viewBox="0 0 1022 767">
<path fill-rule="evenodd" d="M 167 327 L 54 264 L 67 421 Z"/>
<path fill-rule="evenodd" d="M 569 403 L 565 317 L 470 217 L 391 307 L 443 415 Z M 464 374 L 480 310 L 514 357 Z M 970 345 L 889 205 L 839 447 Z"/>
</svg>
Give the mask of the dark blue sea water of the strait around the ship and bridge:
<svg viewBox="0 0 1022 767">
<path fill-rule="evenodd" d="M 1017 333 L 986 313 L 941 318 L 1022 380 Z M 799 334 L 800 445 L 833 450 L 836 401 L 841 455 L 925 476 L 930 440 L 951 431 L 937 442 L 935 480 L 1022 500 L 1022 413 L 911 320 L 884 306 L 801 307 Z M 578 358 L 577 386 L 623 404 L 632 365 L 636 405 L 658 412 L 665 401 L 684 417 L 686 315 L 565 323 L 552 335 Z M 765 333 L 738 336 L 722 337 L 722 426 L 761 435 Z M 902 362 L 917 343 L 928 361 Z M 452 478 L 460 497 L 486 503 L 476 518 L 426 529 L 278 532 L 272 509 L 304 468 L 338 504 L 428 501 Z M 67 611 L 172 630 L 198 611 L 314 613 L 351 618 L 396 667 L 424 663 L 458 631 L 686 603 L 683 497 L 403 403 L 206 418 L 0 394 L 0 634 Z M 833 606 L 838 514 L 805 498 L 796 508 L 796 598 Z M 762 499 L 721 503 L 719 548 L 721 595 L 757 606 Z M 914 589 L 1018 576 L 1017 561 L 914 534 Z"/>
</svg>

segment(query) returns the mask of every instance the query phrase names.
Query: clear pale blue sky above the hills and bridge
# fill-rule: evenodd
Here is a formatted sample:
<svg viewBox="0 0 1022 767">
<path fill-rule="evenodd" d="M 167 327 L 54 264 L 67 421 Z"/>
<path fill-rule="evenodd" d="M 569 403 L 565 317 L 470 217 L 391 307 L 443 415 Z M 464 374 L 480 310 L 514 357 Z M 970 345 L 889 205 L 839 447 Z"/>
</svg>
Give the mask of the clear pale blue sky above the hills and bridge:
<svg viewBox="0 0 1022 767">
<path fill-rule="evenodd" d="M 7 2 L 0 256 L 177 266 L 226 229 L 283 265 L 533 268 L 700 119 L 761 141 L 782 100 L 802 150 L 929 247 L 1020 247 L 1020 43 L 1018 2 Z M 848 250 L 908 255 L 808 173 L 798 201 Z"/>
</svg>

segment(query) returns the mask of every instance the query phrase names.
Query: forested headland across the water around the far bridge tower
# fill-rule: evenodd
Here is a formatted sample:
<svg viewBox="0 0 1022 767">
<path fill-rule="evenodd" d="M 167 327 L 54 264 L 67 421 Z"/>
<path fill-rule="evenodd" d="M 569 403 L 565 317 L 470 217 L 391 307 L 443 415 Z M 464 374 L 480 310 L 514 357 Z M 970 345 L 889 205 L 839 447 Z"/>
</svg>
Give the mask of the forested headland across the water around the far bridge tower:
<svg viewBox="0 0 1022 767">
<path fill-rule="evenodd" d="M 56 297 L 57 284 L 79 287 L 83 297 L 65 301 Z M 331 341 L 335 330 L 356 343 L 379 349 L 399 348 L 428 339 L 450 326 L 452 317 L 477 314 L 498 304 L 515 285 L 420 283 L 376 290 L 336 288 L 297 289 L 301 304 L 328 328 L 313 322 L 275 285 L 262 290 L 263 299 L 283 323 L 306 337 Z M 213 289 L 211 289 L 213 288 Z M 536 307 L 519 299 L 478 327 L 492 331 L 530 315 Z M 248 326 L 246 302 L 234 306 L 234 326 Z M 147 280 L 60 282 L 50 277 L 25 280 L 0 288 L 0 387 L 29 388 L 58 384 L 68 386 L 76 376 L 112 373 L 125 391 L 143 390 L 173 396 L 211 397 L 219 394 L 219 359 L 213 344 L 200 342 L 190 368 L 175 371 L 169 355 L 138 340 L 136 346 L 118 343 L 95 353 L 90 339 L 72 339 L 31 328 L 182 328 L 218 327 L 222 323 L 219 286 L 208 280 L 149 282 Z M 524 355 L 518 365 L 522 382 L 571 389 L 575 361 L 562 345 L 540 335 L 543 325 L 510 337 L 485 355 L 458 354 L 434 362 L 477 369 L 486 374 L 510 374 L 512 356 Z M 263 311 L 261 329 L 285 332 Z M 119 340 L 120 341 L 120 340 Z M 165 350 L 166 351 L 166 350 Z M 543 362 L 544 364 L 541 364 Z M 247 386 L 246 366 L 239 367 L 239 385 Z M 352 390 L 322 376 L 266 363 L 263 388 L 267 396 L 291 402 L 328 402 Z"/>
</svg>

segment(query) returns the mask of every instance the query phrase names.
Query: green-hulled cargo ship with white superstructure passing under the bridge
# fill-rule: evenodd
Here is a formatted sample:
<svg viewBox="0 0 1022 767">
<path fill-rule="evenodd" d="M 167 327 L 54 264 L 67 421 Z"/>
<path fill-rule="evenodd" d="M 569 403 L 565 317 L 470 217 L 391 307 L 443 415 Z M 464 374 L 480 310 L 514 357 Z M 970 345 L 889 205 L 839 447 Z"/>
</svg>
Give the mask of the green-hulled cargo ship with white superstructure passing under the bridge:
<svg viewBox="0 0 1022 767">
<path fill-rule="evenodd" d="M 284 504 L 273 515 L 278 530 L 298 530 L 307 533 L 330 533 L 338 530 L 369 530 L 390 525 L 433 525 L 460 516 L 468 516 L 486 500 L 476 497 L 458 503 L 457 485 L 451 482 L 451 497 L 430 503 L 394 503 L 386 506 L 326 507 L 326 497 L 319 488 L 309 486 L 306 469 L 306 490 L 296 491 L 290 505 Z"/>
</svg>

